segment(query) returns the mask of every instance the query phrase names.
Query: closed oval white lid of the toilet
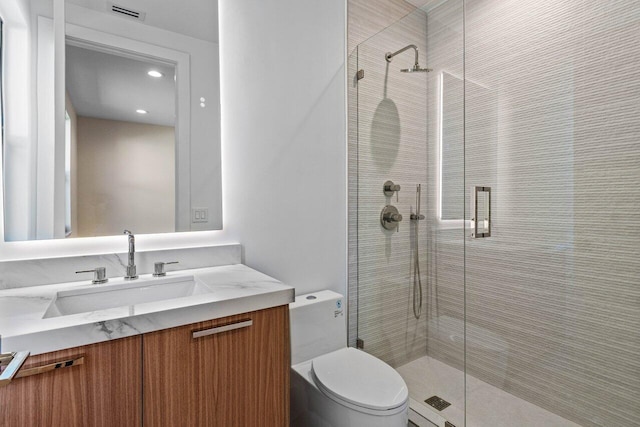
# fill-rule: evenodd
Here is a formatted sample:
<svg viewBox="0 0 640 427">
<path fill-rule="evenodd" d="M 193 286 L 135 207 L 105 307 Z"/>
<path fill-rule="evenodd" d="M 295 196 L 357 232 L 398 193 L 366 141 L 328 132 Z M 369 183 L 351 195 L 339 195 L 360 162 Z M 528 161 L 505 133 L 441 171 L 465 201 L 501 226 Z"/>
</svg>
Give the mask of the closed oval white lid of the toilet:
<svg viewBox="0 0 640 427">
<path fill-rule="evenodd" d="M 329 397 L 363 408 L 389 410 L 402 406 L 409 393 L 395 369 L 354 348 L 343 348 L 313 359 L 316 385 Z"/>
</svg>

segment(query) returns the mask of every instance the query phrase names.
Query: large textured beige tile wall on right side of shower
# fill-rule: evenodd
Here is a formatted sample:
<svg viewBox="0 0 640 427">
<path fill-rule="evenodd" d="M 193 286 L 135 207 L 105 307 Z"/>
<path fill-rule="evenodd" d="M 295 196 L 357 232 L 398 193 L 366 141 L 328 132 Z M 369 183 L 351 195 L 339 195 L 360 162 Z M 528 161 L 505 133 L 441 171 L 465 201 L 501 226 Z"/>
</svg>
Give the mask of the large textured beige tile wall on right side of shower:
<svg viewBox="0 0 640 427">
<path fill-rule="evenodd" d="M 455 112 L 446 94 L 461 87 L 451 52 L 464 41 L 458 196 L 492 187 L 493 235 L 470 239 L 432 218 L 429 354 L 463 368 L 455 336 L 466 280 L 468 374 L 584 426 L 640 425 L 640 2 L 464 6 L 464 15 L 452 1 L 428 14 L 438 77 L 429 82 L 429 181 L 438 113 Z M 451 31 L 461 16 L 464 39 Z M 432 96 L 442 81 L 443 105 Z M 461 117 L 445 117 L 442 129 Z M 429 206 L 437 203 L 430 187 Z M 463 212 L 469 219 L 468 202 Z"/>
</svg>

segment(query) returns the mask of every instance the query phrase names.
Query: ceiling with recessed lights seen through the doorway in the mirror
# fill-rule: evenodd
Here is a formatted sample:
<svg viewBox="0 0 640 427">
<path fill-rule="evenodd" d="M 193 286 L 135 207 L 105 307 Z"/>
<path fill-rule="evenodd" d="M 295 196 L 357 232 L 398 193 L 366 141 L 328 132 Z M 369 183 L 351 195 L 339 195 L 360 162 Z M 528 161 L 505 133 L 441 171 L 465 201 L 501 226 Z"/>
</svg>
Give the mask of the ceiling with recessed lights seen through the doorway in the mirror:
<svg viewBox="0 0 640 427">
<path fill-rule="evenodd" d="M 152 69 L 163 76 L 150 77 Z M 79 116 L 175 126 L 173 66 L 67 44 L 66 86 Z"/>
</svg>

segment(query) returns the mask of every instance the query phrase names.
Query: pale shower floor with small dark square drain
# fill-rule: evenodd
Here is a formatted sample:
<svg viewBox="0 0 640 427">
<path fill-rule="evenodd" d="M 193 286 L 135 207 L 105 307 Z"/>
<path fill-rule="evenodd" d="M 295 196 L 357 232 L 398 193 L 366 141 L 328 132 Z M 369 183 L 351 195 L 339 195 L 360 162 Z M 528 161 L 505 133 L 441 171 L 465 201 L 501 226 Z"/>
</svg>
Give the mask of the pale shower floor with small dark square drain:
<svg viewBox="0 0 640 427">
<path fill-rule="evenodd" d="M 425 356 L 397 368 L 409 387 L 411 408 L 440 427 L 464 426 L 464 373 Z M 467 376 L 466 427 L 580 427 L 497 387 Z M 424 400 L 440 396 L 451 406 L 437 411 Z"/>
</svg>

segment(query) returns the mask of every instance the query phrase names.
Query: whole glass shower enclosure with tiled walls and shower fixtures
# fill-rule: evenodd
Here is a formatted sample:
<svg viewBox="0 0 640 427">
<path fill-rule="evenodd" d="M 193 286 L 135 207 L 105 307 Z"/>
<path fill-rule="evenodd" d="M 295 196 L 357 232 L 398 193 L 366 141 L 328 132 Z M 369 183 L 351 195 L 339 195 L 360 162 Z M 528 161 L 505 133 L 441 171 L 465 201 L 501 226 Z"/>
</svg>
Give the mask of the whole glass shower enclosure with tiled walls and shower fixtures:
<svg viewBox="0 0 640 427">
<path fill-rule="evenodd" d="M 350 55 L 349 343 L 412 420 L 640 425 L 638 46 L 638 1 L 446 0 Z"/>
</svg>

